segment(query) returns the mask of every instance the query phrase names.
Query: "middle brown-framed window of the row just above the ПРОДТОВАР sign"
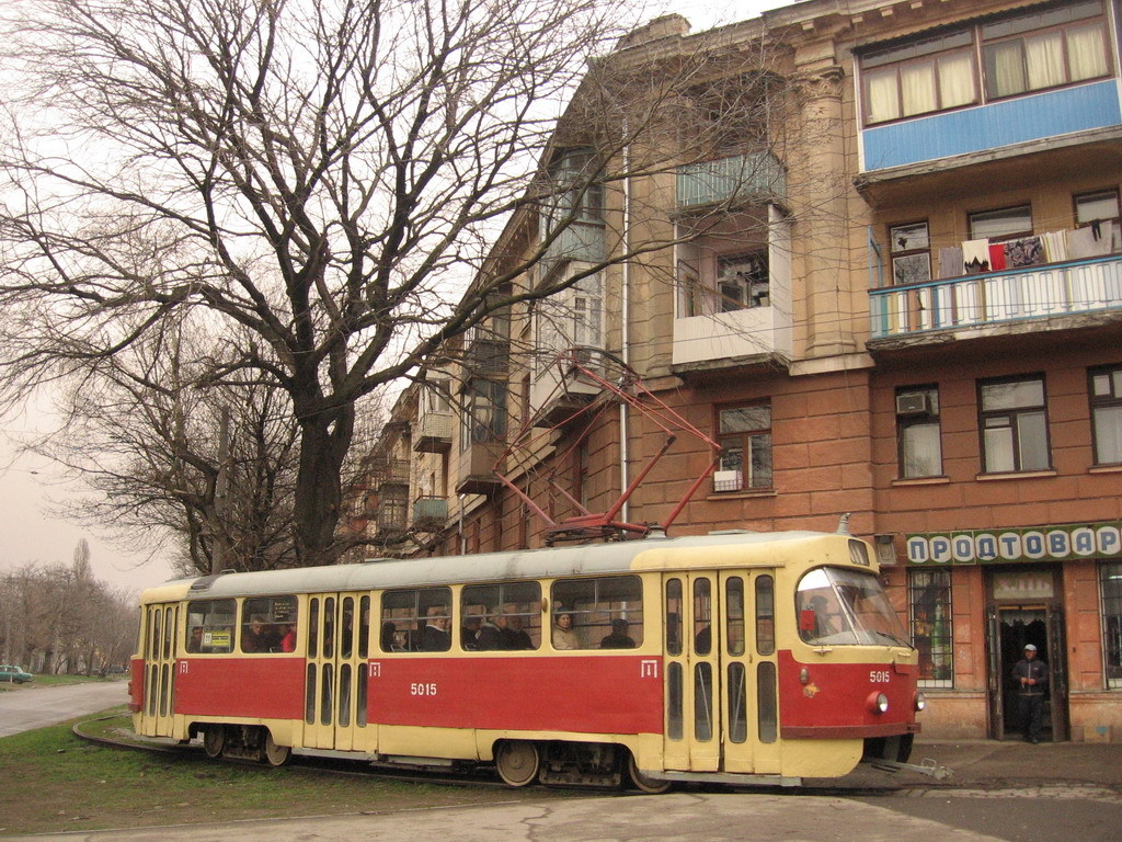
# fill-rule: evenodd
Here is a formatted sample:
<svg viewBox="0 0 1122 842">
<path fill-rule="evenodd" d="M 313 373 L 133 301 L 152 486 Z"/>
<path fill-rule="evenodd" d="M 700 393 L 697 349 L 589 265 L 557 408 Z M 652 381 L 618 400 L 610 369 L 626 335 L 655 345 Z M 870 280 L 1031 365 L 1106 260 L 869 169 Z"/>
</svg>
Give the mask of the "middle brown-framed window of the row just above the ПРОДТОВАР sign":
<svg viewBox="0 0 1122 842">
<path fill-rule="evenodd" d="M 986 474 L 1051 467 L 1043 377 L 982 382 L 978 405 Z"/>
</svg>

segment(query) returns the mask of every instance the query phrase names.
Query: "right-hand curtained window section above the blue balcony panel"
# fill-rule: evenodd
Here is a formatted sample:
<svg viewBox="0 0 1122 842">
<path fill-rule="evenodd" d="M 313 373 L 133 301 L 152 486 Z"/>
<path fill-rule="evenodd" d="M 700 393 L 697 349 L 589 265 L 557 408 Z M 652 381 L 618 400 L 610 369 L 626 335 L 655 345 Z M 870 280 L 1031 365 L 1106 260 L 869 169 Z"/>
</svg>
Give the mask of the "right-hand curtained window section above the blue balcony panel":
<svg viewBox="0 0 1122 842">
<path fill-rule="evenodd" d="M 1104 76 L 1110 71 L 1101 0 L 982 27 L 991 100 Z"/>
</svg>

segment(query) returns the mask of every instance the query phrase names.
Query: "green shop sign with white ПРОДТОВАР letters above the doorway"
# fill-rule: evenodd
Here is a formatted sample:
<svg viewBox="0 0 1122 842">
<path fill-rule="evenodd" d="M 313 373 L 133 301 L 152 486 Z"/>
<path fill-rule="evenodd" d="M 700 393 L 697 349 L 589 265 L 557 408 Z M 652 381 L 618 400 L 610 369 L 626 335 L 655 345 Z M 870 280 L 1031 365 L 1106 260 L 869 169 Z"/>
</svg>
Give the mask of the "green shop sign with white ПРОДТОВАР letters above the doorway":
<svg viewBox="0 0 1122 842">
<path fill-rule="evenodd" d="M 917 532 L 907 537 L 910 565 L 986 565 L 1122 557 L 1122 521 L 1002 530 Z"/>
</svg>

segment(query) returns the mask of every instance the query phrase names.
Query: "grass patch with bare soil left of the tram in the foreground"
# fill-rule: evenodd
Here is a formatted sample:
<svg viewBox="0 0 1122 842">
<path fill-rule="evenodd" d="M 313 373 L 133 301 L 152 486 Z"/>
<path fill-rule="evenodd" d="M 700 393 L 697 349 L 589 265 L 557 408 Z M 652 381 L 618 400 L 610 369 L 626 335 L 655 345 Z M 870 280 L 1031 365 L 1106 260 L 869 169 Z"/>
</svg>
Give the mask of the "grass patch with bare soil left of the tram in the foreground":
<svg viewBox="0 0 1122 842">
<path fill-rule="evenodd" d="M 90 717 L 82 717 L 86 722 Z M 77 722 L 79 720 L 75 720 Z M 0 738 L 0 834 L 396 811 L 563 794 L 333 777 L 297 765 L 215 762 L 202 752 L 153 754 L 94 745 L 73 722 Z M 83 726 L 129 732 L 126 715 Z M 356 769 L 361 769 L 359 763 Z"/>
</svg>

